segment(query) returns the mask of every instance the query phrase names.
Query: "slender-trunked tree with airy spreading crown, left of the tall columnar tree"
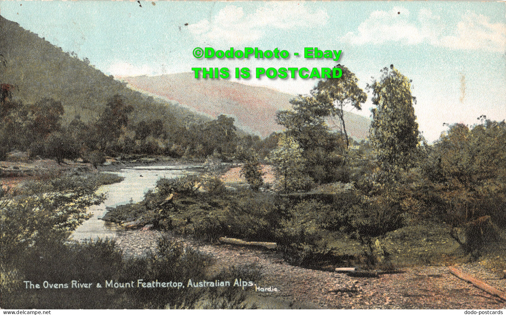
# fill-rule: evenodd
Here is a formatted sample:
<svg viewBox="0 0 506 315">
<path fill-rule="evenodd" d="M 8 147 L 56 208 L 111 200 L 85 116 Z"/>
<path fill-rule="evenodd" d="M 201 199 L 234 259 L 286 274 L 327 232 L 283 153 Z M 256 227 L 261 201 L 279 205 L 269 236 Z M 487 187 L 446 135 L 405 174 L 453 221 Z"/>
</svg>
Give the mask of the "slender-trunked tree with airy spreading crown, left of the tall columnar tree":
<svg viewBox="0 0 506 315">
<path fill-rule="evenodd" d="M 346 131 L 344 108 L 352 106 L 358 110 L 362 109 L 362 104 L 367 100 L 367 95 L 358 86 L 358 78 L 355 73 L 347 67 L 337 65 L 334 68 L 340 68 L 343 75 L 340 78 L 329 78 L 318 81 L 317 85 L 311 90 L 318 102 L 331 105 L 331 115 L 338 116 L 341 129 L 345 134 L 346 148 L 350 146 L 348 132 Z"/>
</svg>

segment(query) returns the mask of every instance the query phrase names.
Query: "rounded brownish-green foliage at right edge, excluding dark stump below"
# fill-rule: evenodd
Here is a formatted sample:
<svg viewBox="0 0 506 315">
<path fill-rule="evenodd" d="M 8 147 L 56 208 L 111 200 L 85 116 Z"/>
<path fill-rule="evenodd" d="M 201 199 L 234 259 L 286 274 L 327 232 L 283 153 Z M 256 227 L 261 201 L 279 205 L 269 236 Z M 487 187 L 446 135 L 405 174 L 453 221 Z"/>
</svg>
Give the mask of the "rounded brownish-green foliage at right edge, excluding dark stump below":
<svg viewBox="0 0 506 315">
<path fill-rule="evenodd" d="M 506 223 L 501 208 L 506 200 L 506 123 L 487 121 L 471 130 L 450 126 L 430 152 L 425 171 L 436 207 L 455 223 L 491 215 Z"/>
</svg>

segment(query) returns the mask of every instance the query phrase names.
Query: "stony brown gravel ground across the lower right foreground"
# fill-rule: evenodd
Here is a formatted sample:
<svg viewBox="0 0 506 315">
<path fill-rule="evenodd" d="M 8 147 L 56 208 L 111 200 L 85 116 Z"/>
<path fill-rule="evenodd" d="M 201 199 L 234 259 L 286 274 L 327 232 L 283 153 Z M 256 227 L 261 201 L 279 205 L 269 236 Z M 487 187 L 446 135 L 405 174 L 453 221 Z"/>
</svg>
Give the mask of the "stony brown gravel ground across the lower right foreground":
<svg viewBox="0 0 506 315">
<path fill-rule="evenodd" d="M 159 236 L 158 231 L 130 231 L 119 235 L 117 242 L 127 254 L 141 255 L 155 248 Z M 186 242 L 213 255 L 217 266 L 254 262 L 261 265 L 263 278 L 258 285 L 277 288 L 279 292 L 257 292 L 259 299 L 282 298 L 320 308 L 498 309 L 506 306 L 506 302 L 449 274 L 446 267 L 421 266 L 406 269 L 402 274 L 353 278 L 289 265 L 273 251 L 224 244 L 198 246 L 192 241 Z M 493 282 L 499 289 L 506 287 L 506 280 L 496 278 Z"/>
</svg>

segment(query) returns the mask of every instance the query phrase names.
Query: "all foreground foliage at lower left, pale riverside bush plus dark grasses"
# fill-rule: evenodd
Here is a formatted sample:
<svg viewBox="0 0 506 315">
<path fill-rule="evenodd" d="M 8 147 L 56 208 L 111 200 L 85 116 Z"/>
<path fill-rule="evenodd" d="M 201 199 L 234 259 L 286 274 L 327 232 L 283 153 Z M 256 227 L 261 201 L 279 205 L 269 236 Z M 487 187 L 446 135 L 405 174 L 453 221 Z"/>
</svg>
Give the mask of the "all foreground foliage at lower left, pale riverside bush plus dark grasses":
<svg viewBox="0 0 506 315">
<path fill-rule="evenodd" d="M 212 257 L 162 238 L 156 252 L 145 257 L 123 256 L 113 241 L 69 242 L 69 232 L 87 216 L 83 209 L 101 202 L 93 192 L 102 184 L 118 181 L 111 174 L 87 173 L 33 182 L 12 197 L 2 191 L 2 308 L 232 308 L 254 307 L 234 287 L 192 289 L 106 288 L 104 281 L 131 283 L 213 281 L 234 277 L 258 281 L 254 265 L 213 268 Z M 213 272 L 214 270 L 214 272 Z M 240 275 L 239 275 L 240 273 Z M 218 277 L 218 278 L 217 278 Z M 26 283 L 42 285 L 93 283 L 86 290 L 26 290 Z M 96 288 L 100 282 L 102 288 Z"/>
</svg>

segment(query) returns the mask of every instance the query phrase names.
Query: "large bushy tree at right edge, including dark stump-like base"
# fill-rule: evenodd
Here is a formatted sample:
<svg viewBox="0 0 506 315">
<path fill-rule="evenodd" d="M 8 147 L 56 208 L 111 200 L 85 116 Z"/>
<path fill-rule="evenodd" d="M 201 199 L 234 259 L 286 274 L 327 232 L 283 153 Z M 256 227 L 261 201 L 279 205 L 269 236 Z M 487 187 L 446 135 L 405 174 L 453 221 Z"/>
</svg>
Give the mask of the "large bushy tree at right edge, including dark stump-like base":
<svg viewBox="0 0 506 315">
<path fill-rule="evenodd" d="M 427 177 L 425 202 L 451 225 L 451 236 L 475 258 L 494 238 L 492 222 L 506 226 L 505 143 L 504 121 L 486 120 L 472 129 L 453 124 L 422 165 Z"/>
</svg>

